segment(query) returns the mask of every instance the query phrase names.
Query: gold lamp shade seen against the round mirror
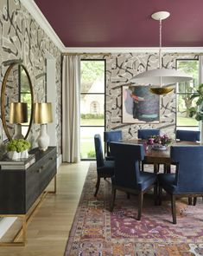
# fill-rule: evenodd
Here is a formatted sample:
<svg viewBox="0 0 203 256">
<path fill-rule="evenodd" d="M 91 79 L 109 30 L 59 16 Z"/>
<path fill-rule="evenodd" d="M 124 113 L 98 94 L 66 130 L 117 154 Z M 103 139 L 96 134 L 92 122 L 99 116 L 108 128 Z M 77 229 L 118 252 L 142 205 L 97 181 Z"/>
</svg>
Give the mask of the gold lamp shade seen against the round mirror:
<svg viewBox="0 0 203 256">
<path fill-rule="evenodd" d="M 28 121 L 28 105 L 25 102 L 10 103 L 10 123 L 23 123 Z"/>
</svg>

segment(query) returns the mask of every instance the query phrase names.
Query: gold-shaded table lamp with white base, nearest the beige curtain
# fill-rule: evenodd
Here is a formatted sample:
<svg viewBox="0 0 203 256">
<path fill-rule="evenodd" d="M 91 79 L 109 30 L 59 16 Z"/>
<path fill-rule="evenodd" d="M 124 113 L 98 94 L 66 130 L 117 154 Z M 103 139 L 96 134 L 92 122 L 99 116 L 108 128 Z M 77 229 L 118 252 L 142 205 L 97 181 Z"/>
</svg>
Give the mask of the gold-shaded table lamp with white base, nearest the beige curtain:
<svg viewBox="0 0 203 256">
<path fill-rule="evenodd" d="M 41 132 L 37 138 L 39 149 L 45 151 L 48 149 L 49 136 L 47 132 L 48 122 L 52 122 L 52 103 L 35 103 L 34 122 L 41 124 Z"/>
</svg>

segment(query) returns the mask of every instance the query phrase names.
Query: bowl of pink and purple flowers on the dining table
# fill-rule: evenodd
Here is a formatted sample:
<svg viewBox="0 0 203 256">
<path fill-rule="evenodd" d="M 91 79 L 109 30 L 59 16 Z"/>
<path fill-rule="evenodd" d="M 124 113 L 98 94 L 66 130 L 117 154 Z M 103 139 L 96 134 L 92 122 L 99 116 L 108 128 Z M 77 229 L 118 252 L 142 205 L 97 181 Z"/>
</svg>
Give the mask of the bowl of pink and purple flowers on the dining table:
<svg viewBox="0 0 203 256">
<path fill-rule="evenodd" d="M 156 150 L 166 150 L 172 142 L 168 135 L 154 135 L 147 140 L 147 145 Z"/>
</svg>

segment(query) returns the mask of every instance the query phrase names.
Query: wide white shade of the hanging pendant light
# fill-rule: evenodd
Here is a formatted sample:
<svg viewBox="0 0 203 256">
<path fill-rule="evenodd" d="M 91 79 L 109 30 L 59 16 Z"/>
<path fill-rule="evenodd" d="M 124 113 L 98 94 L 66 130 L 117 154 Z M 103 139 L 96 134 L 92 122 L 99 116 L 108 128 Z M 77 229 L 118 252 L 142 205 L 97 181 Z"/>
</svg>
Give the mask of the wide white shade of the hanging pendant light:
<svg viewBox="0 0 203 256">
<path fill-rule="evenodd" d="M 131 82 L 140 85 L 164 86 L 176 82 L 186 82 L 192 79 L 191 76 L 176 69 L 152 69 L 132 77 Z"/>
</svg>

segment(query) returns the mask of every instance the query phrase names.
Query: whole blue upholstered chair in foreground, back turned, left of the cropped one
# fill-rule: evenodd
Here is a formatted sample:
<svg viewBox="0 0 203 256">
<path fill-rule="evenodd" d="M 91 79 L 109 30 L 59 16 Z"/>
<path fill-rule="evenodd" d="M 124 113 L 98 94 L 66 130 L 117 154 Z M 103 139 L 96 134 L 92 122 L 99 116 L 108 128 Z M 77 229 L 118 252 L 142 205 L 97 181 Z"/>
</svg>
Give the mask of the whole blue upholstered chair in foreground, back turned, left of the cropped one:
<svg viewBox="0 0 203 256">
<path fill-rule="evenodd" d="M 115 160 L 114 175 L 111 178 L 111 211 L 114 207 L 117 189 L 127 194 L 138 194 L 137 220 L 140 220 L 143 194 L 151 187 L 155 187 L 156 174 L 140 172 L 139 170 L 139 161 L 144 158 L 143 145 L 111 142 L 110 148 Z"/>
</svg>

